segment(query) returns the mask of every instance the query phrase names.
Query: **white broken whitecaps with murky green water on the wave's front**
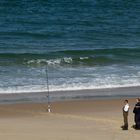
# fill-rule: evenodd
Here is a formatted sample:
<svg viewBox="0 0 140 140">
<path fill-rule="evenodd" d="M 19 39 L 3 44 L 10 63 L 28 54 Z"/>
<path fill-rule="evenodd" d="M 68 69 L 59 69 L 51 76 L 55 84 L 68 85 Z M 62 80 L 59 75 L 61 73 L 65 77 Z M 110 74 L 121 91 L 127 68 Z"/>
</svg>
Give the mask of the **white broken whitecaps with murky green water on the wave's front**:
<svg viewBox="0 0 140 140">
<path fill-rule="evenodd" d="M 27 65 L 72 65 L 72 66 L 79 66 L 79 65 L 87 65 L 87 66 L 93 66 L 93 65 L 101 65 L 101 64 L 109 64 L 113 63 L 113 60 L 107 59 L 104 57 L 78 57 L 78 58 L 72 58 L 72 57 L 64 57 L 64 58 L 58 58 L 58 59 L 36 59 L 36 60 L 28 60 L 25 61 L 24 64 Z"/>
</svg>

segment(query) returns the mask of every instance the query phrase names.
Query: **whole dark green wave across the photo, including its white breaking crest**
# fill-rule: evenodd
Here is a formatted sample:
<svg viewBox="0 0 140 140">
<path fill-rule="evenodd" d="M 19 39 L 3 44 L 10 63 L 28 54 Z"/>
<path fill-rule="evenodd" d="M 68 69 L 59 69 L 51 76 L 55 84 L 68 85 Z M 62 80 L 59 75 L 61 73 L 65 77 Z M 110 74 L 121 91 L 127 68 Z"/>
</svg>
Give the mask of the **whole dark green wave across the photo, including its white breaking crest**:
<svg viewBox="0 0 140 140">
<path fill-rule="evenodd" d="M 106 65 L 140 60 L 139 48 L 112 48 L 96 50 L 65 50 L 48 53 L 0 53 L 5 60 L 23 65 Z"/>
</svg>

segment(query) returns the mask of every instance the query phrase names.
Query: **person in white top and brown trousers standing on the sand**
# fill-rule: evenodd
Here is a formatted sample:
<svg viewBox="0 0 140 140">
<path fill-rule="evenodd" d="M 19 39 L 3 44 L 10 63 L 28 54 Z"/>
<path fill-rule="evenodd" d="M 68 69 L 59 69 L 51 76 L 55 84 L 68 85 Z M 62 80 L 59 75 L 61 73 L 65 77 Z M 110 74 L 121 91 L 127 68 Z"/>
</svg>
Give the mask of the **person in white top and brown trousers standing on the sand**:
<svg viewBox="0 0 140 140">
<path fill-rule="evenodd" d="M 124 125 L 122 126 L 122 129 L 123 130 L 128 130 L 128 113 L 129 113 L 128 100 L 124 100 L 124 106 L 123 106 L 123 120 L 124 120 Z"/>
</svg>

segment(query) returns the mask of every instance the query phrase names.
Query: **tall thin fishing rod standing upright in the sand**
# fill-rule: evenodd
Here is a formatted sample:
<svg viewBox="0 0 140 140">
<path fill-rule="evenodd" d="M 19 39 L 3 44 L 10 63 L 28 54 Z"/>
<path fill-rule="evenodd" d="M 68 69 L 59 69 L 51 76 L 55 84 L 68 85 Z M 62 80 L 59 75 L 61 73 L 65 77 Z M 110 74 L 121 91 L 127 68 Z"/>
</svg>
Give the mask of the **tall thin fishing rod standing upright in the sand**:
<svg viewBox="0 0 140 140">
<path fill-rule="evenodd" d="M 46 97 L 47 97 L 47 104 L 48 104 L 47 110 L 50 113 L 51 112 L 51 103 L 50 103 L 50 89 L 49 89 L 48 66 L 46 66 L 45 73 L 46 73 L 46 84 L 47 84 L 47 95 L 46 95 Z"/>
</svg>

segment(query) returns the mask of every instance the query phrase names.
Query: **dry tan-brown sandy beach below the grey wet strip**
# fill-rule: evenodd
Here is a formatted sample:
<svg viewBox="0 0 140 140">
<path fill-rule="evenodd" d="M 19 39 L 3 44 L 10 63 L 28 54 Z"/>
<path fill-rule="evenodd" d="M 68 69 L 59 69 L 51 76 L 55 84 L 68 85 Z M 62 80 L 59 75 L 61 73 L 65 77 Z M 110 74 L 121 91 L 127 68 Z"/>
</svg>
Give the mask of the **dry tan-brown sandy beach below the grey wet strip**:
<svg viewBox="0 0 140 140">
<path fill-rule="evenodd" d="M 129 99 L 129 130 L 122 131 L 120 99 L 0 105 L 2 140 L 138 140 L 133 125 L 135 99 Z"/>
</svg>

